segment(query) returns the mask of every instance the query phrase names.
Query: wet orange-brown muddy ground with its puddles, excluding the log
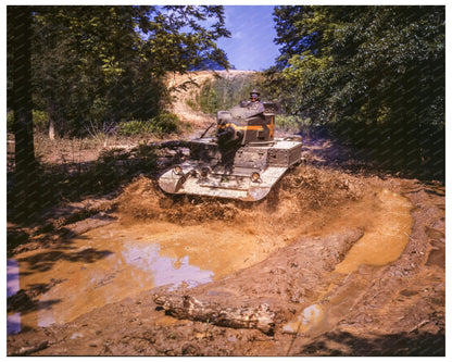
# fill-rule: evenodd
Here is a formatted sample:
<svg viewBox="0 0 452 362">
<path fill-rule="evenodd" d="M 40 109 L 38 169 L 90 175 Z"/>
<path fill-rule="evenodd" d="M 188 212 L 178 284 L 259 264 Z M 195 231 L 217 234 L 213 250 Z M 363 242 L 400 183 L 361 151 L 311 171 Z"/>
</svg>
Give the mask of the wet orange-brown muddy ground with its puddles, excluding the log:
<svg viewBox="0 0 452 362">
<path fill-rule="evenodd" d="M 22 248 L 8 354 L 444 355 L 444 188 L 334 150 L 305 146 L 258 204 L 168 198 L 142 176 L 108 225 Z M 266 303 L 275 328 L 177 320 L 156 292 Z"/>
</svg>

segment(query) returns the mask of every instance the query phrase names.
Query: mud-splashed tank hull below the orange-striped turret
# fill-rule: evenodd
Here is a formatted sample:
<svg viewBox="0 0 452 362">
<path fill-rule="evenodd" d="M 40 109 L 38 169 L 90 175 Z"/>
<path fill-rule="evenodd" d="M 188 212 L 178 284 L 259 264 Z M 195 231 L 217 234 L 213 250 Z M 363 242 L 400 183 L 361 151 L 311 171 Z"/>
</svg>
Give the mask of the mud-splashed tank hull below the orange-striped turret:
<svg viewBox="0 0 452 362">
<path fill-rule="evenodd" d="M 165 192 L 259 201 L 301 160 L 301 138 L 250 143 L 228 151 L 214 139 L 191 142 L 190 159 L 159 179 Z"/>
</svg>

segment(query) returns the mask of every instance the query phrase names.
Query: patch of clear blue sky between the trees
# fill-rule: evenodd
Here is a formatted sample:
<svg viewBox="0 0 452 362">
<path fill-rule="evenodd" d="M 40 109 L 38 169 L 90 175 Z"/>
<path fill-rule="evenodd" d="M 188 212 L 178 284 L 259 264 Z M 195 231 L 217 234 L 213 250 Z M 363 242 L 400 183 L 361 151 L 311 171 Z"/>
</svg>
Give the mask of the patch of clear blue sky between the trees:
<svg viewBox="0 0 452 362">
<path fill-rule="evenodd" d="M 225 5 L 230 38 L 217 40 L 229 63 L 239 71 L 263 71 L 279 55 L 271 5 Z"/>
</svg>

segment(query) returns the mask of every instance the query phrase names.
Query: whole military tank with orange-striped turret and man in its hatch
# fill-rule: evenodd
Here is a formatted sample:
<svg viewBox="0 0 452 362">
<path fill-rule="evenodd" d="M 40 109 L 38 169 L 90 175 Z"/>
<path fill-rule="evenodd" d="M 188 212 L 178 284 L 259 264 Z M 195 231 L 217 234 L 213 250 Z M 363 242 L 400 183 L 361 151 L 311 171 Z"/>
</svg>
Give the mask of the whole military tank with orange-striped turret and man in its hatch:
<svg viewBox="0 0 452 362">
<path fill-rule="evenodd" d="M 159 178 L 167 194 L 259 201 L 286 171 L 301 160 L 300 136 L 275 138 L 276 102 L 259 92 L 228 111 L 217 112 L 216 133 L 189 142 L 190 157 Z"/>
</svg>

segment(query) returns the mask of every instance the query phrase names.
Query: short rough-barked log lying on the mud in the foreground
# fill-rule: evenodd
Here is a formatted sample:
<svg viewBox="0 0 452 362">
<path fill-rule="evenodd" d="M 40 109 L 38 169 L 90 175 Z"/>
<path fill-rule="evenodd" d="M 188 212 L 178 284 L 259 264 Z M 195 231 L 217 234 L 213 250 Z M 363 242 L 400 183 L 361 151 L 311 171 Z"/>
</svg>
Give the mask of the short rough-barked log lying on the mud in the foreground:
<svg viewBox="0 0 452 362">
<path fill-rule="evenodd" d="M 231 328 L 255 328 L 267 335 L 275 327 L 273 313 L 268 304 L 252 307 L 224 307 L 216 302 L 200 301 L 191 296 L 166 295 L 153 298 L 165 312 L 183 320 L 208 322 Z"/>
</svg>

